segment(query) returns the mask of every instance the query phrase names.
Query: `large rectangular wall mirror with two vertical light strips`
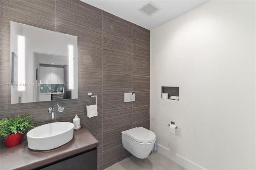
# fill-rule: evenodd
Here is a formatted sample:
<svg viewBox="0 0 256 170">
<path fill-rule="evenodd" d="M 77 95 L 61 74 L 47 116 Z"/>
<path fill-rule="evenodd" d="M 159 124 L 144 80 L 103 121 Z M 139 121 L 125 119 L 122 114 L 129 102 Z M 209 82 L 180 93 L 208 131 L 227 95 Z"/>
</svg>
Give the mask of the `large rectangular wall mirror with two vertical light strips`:
<svg viewBox="0 0 256 170">
<path fill-rule="evenodd" d="M 11 104 L 77 99 L 77 37 L 10 22 Z"/>
</svg>

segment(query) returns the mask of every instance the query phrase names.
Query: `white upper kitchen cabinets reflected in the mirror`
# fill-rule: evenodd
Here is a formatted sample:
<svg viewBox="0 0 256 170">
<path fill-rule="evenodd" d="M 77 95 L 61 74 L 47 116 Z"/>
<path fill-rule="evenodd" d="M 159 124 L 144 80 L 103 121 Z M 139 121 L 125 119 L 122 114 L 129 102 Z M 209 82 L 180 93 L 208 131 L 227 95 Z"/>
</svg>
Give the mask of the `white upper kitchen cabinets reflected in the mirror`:
<svg viewBox="0 0 256 170">
<path fill-rule="evenodd" d="M 40 81 L 41 84 L 63 84 L 64 69 L 40 66 Z"/>
</svg>

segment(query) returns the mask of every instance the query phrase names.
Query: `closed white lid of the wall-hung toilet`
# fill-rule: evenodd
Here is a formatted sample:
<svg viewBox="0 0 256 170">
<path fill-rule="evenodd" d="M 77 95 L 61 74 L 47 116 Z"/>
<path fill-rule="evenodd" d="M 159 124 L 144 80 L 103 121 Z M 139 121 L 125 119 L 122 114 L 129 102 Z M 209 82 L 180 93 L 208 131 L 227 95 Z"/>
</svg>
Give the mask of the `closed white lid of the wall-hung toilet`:
<svg viewBox="0 0 256 170">
<path fill-rule="evenodd" d="M 144 127 L 136 127 L 126 130 L 125 134 L 133 140 L 141 143 L 150 143 L 156 140 L 156 134 Z"/>
</svg>

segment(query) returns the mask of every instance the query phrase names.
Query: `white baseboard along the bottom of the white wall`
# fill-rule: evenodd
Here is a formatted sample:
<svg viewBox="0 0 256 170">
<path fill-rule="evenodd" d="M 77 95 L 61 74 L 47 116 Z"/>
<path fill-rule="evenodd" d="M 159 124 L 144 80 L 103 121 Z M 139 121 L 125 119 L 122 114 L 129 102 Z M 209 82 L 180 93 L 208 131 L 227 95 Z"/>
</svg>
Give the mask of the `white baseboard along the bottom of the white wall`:
<svg viewBox="0 0 256 170">
<path fill-rule="evenodd" d="M 169 149 L 165 148 L 164 146 L 161 146 L 160 144 L 157 144 L 157 151 L 158 153 L 166 156 L 167 158 L 176 162 L 177 164 L 186 168 L 187 170 L 205 170 L 205 168 L 202 168 L 201 166 L 194 164 L 190 160 L 183 158 L 182 156 L 170 151 Z"/>
</svg>

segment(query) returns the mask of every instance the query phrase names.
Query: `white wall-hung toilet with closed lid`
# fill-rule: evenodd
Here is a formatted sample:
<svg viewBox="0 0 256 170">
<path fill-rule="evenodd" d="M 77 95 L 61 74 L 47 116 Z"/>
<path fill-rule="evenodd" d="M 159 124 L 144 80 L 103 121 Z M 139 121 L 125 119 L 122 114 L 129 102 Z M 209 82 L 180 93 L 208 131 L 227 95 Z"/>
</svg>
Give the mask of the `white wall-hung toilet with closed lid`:
<svg viewBox="0 0 256 170">
<path fill-rule="evenodd" d="M 121 133 L 122 143 L 126 150 L 140 159 L 148 157 L 156 141 L 154 132 L 144 127 L 136 127 Z"/>
</svg>

